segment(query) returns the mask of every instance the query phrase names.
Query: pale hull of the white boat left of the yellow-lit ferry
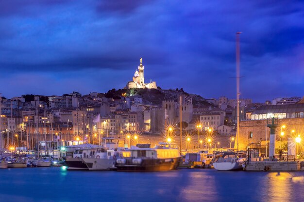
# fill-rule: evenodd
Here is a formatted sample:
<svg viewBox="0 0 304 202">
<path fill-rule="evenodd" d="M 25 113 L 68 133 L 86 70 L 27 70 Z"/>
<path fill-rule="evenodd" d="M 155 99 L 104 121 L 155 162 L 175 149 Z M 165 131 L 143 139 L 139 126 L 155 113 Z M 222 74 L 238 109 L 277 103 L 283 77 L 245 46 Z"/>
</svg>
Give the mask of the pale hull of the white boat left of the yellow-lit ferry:
<svg viewBox="0 0 304 202">
<path fill-rule="evenodd" d="M 107 158 L 82 158 L 90 171 L 113 170 L 115 168 L 115 160 Z"/>
</svg>

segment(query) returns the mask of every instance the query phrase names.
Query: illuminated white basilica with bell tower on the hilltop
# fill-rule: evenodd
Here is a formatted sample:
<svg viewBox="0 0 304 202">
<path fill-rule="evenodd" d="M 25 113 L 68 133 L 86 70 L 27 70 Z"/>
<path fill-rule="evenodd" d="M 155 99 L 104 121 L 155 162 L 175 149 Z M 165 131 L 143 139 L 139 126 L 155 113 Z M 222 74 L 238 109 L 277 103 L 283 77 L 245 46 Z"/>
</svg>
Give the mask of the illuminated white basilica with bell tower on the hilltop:
<svg viewBox="0 0 304 202">
<path fill-rule="evenodd" d="M 126 89 L 130 88 L 154 88 L 156 89 L 156 82 L 151 81 L 150 83 L 145 83 L 145 78 L 144 78 L 144 66 L 142 65 L 142 58 L 140 58 L 140 64 L 138 66 L 138 71 L 136 69 L 133 81 L 129 81 L 127 83 Z"/>
</svg>

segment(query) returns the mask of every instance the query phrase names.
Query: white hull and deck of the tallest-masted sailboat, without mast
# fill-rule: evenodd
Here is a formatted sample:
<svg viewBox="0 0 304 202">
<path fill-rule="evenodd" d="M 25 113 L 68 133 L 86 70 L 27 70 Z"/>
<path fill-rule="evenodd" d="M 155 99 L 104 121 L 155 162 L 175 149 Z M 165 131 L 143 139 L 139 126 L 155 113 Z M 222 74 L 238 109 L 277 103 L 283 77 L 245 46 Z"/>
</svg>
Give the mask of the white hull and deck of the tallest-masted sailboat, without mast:
<svg viewBox="0 0 304 202">
<path fill-rule="evenodd" d="M 243 170 L 243 163 L 246 158 L 238 158 L 234 152 L 225 152 L 222 157 L 213 162 L 213 166 L 218 171 L 237 171 Z"/>
</svg>

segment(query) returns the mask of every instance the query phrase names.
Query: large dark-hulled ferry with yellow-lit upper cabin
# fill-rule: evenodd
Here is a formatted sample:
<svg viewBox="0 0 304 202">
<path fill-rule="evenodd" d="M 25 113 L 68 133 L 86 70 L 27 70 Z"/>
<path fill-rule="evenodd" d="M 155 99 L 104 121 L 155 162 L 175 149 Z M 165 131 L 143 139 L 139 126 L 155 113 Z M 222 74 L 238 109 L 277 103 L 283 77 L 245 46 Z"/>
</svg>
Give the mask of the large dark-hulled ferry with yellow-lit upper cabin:
<svg viewBox="0 0 304 202">
<path fill-rule="evenodd" d="M 117 171 L 169 171 L 176 169 L 181 159 L 176 148 L 131 147 L 130 152 L 130 157 L 116 159 Z"/>
</svg>

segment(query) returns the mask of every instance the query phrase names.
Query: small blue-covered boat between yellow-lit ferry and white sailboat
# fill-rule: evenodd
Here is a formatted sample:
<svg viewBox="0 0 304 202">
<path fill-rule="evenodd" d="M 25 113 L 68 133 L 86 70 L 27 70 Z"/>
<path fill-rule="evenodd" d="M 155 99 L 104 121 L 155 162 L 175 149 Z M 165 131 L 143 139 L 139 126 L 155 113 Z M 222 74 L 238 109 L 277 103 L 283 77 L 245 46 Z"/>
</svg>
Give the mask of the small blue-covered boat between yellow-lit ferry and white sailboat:
<svg viewBox="0 0 304 202">
<path fill-rule="evenodd" d="M 208 168 L 213 154 L 208 151 L 186 153 L 185 160 L 181 161 L 178 168 Z"/>
</svg>

